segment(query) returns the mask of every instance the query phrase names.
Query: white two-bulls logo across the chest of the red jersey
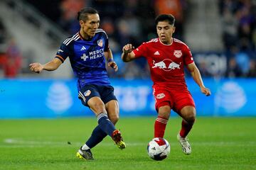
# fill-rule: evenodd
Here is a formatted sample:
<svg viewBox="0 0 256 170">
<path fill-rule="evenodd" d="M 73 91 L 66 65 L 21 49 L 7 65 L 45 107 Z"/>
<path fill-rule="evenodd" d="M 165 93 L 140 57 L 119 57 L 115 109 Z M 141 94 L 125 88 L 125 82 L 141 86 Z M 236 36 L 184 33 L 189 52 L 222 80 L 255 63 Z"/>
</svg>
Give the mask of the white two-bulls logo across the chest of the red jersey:
<svg viewBox="0 0 256 170">
<path fill-rule="evenodd" d="M 172 69 L 181 69 L 180 65 L 181 65 L 181 63 L 177 64 L 176 62 L 173 62 L 170 59 L 164 59 L 161 62 L 155 62 L 155 60 L 153 60 L 153 67 L 152 67 L 152 69 L 159 68 L 159 69 L 164 69 L 164 71 L 166 71 L 166 72 L 169 72 Z"/>
</svg>

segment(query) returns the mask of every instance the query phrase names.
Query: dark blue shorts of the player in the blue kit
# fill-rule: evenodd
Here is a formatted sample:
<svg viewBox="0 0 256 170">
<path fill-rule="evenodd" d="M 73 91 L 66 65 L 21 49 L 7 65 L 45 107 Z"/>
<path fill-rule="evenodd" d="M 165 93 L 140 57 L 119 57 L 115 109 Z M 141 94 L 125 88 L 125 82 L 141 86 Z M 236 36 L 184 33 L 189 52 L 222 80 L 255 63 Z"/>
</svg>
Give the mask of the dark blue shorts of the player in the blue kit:
<svg viewBox="0 0 256 170">
<path fill-rule="evenodd" d="M 117 98 L 114 96 L 113 86 L 87 84 L 78 92 L 78 98 L 82 101 L 82 104 L 87 107 L 89 107 L 87 104 L 89 99 L 95 96 L 99 97 L 105 104 L 112 100 L 117 101 Z"/>
</svg>

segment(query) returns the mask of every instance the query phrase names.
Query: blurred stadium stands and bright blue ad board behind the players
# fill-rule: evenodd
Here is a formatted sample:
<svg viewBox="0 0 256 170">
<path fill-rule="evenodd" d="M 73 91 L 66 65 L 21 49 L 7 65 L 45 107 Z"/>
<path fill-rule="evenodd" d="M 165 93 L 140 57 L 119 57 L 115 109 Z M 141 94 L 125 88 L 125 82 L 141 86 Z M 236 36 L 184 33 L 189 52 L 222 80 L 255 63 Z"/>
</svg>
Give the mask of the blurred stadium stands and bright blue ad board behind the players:
<svg viewBox="0 0 256 170">
<path fill-rule="evenodd" d="M 191 48 L 212 91 L 206 98 L 186 74 L 198 115 L 256 115 L 255 0 L 1 0 L 0 118 L 93 115 L 77 98 L 68 60 L 55 72 L 28 69 L 55 57 L 60 43 L 78 31 L 77 11 L 85 6 L 100 12 L 119 64 L 119 72 L 109 74 L 121 116 L 156 115 L 145 60 L 124 64 L 120 56 L 127 42 L 137 47 L 156 36 L 159 13 L 174 14 L 174 37 Z"/>
</svg>

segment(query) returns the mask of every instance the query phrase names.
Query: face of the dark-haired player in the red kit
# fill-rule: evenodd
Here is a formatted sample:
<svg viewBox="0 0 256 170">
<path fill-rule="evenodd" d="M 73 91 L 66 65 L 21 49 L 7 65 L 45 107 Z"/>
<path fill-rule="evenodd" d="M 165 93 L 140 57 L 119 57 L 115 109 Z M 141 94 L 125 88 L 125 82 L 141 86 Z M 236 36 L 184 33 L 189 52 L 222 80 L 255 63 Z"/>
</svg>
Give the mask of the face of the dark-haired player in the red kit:
<svg viewBox="0 0 256 170">
<path fill-rule="evenodd" d="M 166 45 L 171 44 L 171 37 L 175 31 L 175 27 L 167 21 L 160 21 L 156 26 L 157 35 L 161 42 Z"/>
</svg>

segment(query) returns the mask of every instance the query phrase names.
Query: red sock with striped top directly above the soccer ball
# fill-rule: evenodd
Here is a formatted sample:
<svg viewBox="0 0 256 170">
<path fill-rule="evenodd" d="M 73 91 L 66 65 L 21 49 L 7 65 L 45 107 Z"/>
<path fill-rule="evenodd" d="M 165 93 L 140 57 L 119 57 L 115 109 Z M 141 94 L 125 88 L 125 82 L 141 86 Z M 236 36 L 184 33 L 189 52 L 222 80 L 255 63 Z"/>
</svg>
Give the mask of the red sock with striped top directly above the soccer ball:
<svg viewBox="0 0 256 170">
<path fill-rule="evenodd" d="M 164 131 L 167 125 L 168 119 L 158 116 L 154 124 L 154 137 L 164 137 Z"/>
</svg>

